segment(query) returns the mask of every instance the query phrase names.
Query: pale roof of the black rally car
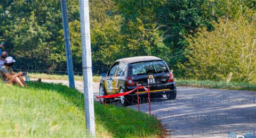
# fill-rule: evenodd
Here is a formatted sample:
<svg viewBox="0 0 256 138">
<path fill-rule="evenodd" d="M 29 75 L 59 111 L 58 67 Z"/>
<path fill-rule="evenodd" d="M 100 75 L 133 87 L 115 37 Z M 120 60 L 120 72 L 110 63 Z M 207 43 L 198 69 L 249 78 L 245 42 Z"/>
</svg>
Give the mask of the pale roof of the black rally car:
<svg viewBox="0 0 256 138">
<path fill-rule="evenodd" d="M 156 60 L 162 60 L 162 59 L 155 56 L 136 56 L 136 57 L 126 57 L 126 58 L 118 59 L 116 62 L 134 63 L 134 62 L 156 61 Z"/>
</svg>

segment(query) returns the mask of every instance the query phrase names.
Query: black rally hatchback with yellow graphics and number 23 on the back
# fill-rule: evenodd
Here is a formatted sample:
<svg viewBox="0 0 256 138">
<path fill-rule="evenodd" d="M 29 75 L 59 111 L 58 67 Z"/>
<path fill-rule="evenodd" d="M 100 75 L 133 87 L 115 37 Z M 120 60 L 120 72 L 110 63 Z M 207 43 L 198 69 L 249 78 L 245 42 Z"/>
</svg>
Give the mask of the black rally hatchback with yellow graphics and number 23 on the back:
<svg viewBox="0 0 256 138">
<path fill-rule="evenodd" d="M 175 99 L 177 90 L 173 74 L 163 59 L 154 56 L 138 56 L 118 59 L 100 81 L 100 96 L 122 93 L 136 88 L 136 85 L 150 87 L 150 98 Z M 139 89 L 139 97 L 148 97 L 144 89 Z M 122 105 L 130 105 L 137 99 L 137 91 L 122 96 Z M 101 99 L 108 102 L 110 99 Z"/>
</svg>

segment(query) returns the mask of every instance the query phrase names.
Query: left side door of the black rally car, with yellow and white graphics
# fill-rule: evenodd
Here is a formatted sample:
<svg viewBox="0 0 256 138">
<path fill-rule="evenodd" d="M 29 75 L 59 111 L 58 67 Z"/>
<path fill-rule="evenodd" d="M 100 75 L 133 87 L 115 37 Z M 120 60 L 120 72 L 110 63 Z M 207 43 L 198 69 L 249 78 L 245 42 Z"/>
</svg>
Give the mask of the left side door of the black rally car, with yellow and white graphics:
<svg viewBox="0 0 256 138">
<path fill-rule="evenodd" d="M 108 74 L 106 76 L 105 86 L 106 86 L 106 92 L 108 94 L 115 94 L 115 84 L 116 84 L 115 76 L 118 69 L 118 65 L 119 65 L 119 62 L 114 63 L 110 67 Z"/>
</svg>

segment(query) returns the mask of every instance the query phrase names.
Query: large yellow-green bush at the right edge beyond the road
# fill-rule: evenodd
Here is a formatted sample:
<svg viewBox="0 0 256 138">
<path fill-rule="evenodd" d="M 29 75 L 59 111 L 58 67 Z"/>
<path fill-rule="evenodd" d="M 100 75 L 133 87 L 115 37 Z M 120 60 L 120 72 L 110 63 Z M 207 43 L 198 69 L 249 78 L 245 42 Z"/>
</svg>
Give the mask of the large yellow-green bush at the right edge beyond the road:
<svg viewBox="0 0 256 138">
<path fill-rule="evenodd" d="M 243 16 L 238 21 L 219 20 L 214 31 L 199 29 L 187 38 L 188 77 L 198 80 L 256 82 L 256 26 Z"/>
</svg>

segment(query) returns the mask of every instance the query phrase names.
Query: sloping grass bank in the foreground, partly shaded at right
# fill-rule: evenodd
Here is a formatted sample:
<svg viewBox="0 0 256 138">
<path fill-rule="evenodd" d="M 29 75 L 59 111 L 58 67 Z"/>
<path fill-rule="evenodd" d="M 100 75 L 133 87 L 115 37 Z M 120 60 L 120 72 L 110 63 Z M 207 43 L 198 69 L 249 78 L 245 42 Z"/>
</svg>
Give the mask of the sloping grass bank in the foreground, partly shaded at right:
<svg viewBox="0 0 256 138">
<path fill-rule="evenodd" d="M 0 135 L 3 137 L 84 137 L 83 94 L 60 84 L 28 88 L 0 83 Z M 132 109 L 94 103 L 100 137 L 161 137 L 155 117 Z"/>
</svg>

